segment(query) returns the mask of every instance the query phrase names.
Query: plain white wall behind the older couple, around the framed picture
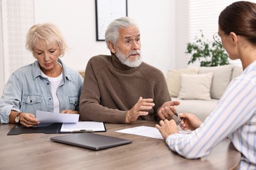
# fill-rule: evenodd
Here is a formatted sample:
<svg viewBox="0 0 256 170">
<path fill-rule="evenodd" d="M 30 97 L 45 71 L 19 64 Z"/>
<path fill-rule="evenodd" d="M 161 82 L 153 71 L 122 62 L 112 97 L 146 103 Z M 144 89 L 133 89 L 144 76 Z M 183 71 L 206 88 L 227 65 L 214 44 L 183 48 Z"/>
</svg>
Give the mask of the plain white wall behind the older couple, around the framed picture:
<svg viewBox="0 0 256 170">
<path fill-rule="evenodd" d="M 96 41 L 95 0 L 34 0 L 35 24 L 60 27 L 70 50 L 62 60 L 84 71 L 87 61 L 110 54 L 105 42 Z M 128 16 L 140 27 L 142 58 L 165 75 L 175 68 L 175 1 L 128 0 Z"/>
</svg>

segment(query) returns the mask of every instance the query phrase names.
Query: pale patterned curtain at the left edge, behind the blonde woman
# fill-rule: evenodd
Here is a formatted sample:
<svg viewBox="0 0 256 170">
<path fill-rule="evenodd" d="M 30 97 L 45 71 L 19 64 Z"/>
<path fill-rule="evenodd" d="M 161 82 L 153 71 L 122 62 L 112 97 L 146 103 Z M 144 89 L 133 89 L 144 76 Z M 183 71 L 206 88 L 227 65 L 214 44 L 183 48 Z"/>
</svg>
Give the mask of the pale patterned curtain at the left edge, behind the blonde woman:
<svg viewBox="0 0 256 170">
<path fill-rule="evenodd" d="M 33 0 L 0 0 L 0 82 L 5 84 L 14 71 L 35 59 L 25 48 L 26 33 L 34 24 Z M 0 93 L 3 92 L 0 86 Z"/>
</svg>

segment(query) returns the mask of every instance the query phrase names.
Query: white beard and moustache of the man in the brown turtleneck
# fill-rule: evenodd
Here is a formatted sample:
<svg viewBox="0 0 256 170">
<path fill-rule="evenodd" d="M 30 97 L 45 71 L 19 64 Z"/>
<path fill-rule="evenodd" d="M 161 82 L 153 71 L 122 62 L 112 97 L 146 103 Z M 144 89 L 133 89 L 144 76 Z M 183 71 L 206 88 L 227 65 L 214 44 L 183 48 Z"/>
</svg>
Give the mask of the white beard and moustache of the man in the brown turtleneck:
<svg viewBox="0 0 256 170">
<path fill-rule="evenodd" d="M 140 57 L 140 50 L 136 50 L 136 52 L 132 52 L 131 54 L 139 54 L 139 57 L 135 61 L 130 61 L 128 56 L 122 54 L 118 48 L 116 48 L 116 57 L 123 63 L 123 65 L 127 65 L 129 67 L 139 67 L 142 63 L 142 58 Z M 129 54 L 129 55 L 131 55 Z"/>
</svg>

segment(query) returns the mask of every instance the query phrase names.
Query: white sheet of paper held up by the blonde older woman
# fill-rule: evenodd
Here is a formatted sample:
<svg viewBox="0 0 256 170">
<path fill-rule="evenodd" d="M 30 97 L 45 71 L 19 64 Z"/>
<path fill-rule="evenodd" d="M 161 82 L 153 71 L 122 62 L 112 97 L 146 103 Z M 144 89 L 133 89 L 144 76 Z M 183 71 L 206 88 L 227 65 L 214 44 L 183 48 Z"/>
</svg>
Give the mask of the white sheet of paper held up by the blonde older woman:
<svg viewBox="0 0 256 170">
<path fill-rule="evenodd" d="M 40 123 L 77 123 L 79 114 L 63 114 L 37 110 L 36 118 Z"/>
</svg>

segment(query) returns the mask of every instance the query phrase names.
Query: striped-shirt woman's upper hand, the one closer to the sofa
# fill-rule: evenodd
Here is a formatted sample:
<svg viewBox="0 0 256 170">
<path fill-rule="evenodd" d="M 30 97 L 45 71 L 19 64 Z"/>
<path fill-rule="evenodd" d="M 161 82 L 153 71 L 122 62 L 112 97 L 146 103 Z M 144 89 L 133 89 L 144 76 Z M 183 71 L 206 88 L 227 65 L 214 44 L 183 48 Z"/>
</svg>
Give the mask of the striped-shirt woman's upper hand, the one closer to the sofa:
<svg viewBox="0 0 256 170">
<path fill-rule="evenodd" d="M 193 131 L 194 129 L 200 127 L 200 125 L 202 124 L 202 121 L 199 120 L 199 118 L 197 118 L 194 114 L 181 113 L 179 115 L 183 118 L 181 120 L 181 123 L 179 124 L 179 126 L 183 130 L 190 129 Z"/>
</svg>

